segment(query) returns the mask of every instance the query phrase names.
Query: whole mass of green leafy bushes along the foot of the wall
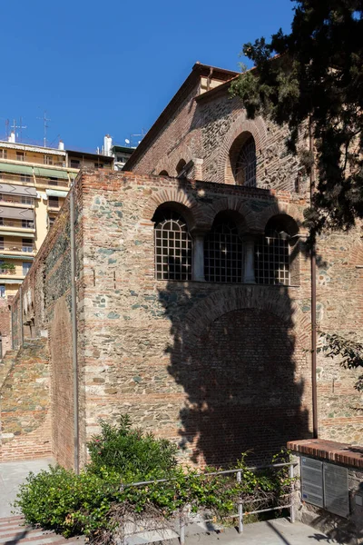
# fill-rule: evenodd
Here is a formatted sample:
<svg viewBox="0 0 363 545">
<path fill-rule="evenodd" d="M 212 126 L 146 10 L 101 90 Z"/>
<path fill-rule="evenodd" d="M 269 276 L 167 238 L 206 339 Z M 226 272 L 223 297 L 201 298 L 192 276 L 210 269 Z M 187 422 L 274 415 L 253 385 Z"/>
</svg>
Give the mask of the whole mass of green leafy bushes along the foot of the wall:
<svg viewBox="0 0 363 545">
<path fill-rule="evenodd" d="M 132 430 L 128 417 L 117 426 L 102 422 L 102 432 L 89 449 L 91 462 L 80 475 L 60 466 L 30 473 L 15 502 L 28 523 L 65 537 L 84 533 L 92 535 L 93 542 L 112 542 L 114 533 L 123 539 L 125 524 L 138 517 L 142 525 L 145 520 L 158 520 L 160 527 L 161 521 L 180 510 L 208 510 L 223 518 L 237 511 L 239 498 L 245 510 L 280 506 L 291 485 L 287 468 L 249 471 L 245 455 L 237 464 L 240 482 L 235 474 L 200 474 L 182 468 L 170 441 Z M 207 468 L 206 473 L 212 471 Z M 166 481 L 157 482 L 161 477 Z M 134 481 L 152 482 L 132 486 Z"/>
</svg>

